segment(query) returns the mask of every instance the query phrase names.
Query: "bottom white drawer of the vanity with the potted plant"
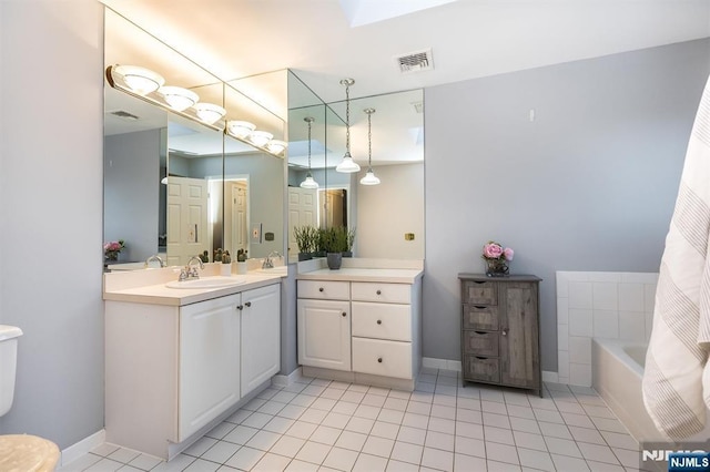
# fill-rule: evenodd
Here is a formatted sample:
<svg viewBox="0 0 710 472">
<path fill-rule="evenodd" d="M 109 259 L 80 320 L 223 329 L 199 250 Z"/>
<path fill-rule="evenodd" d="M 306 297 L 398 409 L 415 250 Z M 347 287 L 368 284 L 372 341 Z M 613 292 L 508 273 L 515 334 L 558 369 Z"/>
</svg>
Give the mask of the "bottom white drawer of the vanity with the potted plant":
<svg viewBox="0 0 710 472">
<path fill-rule="evenodd" d="M 412 343 L 353 338 L 353 371 L 412 379 Z"/>
</svg>

